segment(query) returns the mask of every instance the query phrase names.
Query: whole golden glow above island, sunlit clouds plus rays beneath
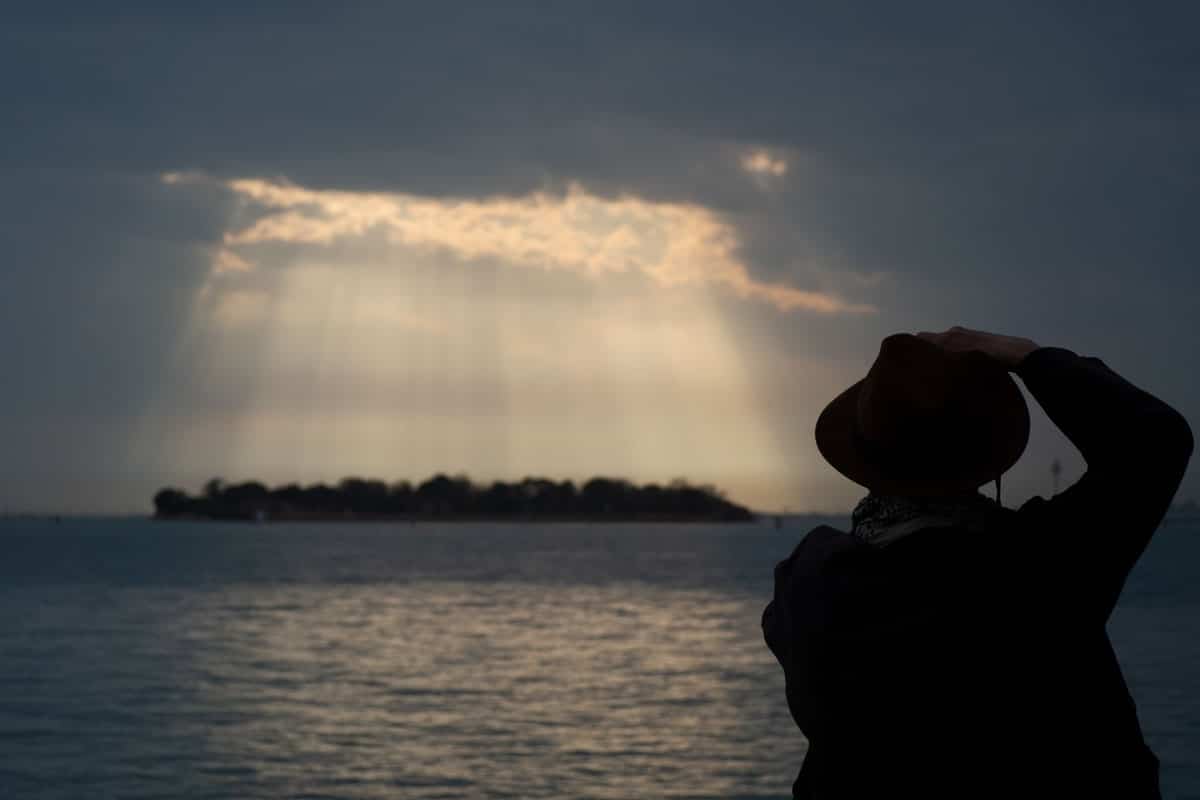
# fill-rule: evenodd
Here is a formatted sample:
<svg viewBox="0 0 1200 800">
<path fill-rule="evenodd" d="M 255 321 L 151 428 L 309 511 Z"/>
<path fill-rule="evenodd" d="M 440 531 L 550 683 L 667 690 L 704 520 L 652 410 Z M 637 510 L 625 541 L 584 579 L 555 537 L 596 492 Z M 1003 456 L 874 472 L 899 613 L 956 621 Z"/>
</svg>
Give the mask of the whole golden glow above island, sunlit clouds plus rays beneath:
<svg viewBox="0 0 1200 800">
<path fill-rule="evenodd" d="M 228 187 L 258 217 L 215 251 L 186 338 L 196 380 L 233 371 L 240 405 L 184 426 L 173 457 L 233 479 L 744 485 L 786 464 L 718 296 L 866 309 L 751 278 L 694 206 Z"/>
</svg>

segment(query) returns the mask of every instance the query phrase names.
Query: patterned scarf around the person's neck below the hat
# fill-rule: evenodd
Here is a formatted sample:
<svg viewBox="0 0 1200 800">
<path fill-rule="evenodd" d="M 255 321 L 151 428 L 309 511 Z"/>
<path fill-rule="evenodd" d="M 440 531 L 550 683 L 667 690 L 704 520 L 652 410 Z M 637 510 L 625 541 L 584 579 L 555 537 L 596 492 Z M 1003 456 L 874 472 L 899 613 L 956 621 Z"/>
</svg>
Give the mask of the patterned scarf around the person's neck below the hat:
<svg viewBox="0 0 1200 800">
<path fill-rule="evenodd" d="M 854 506 L 850 533 L 877 547 L 923 528 L 962 527 L 979 533 L 998 507 L 994 499 L 978 492 L 954 498 L 868 494 Z"/>
</svg>

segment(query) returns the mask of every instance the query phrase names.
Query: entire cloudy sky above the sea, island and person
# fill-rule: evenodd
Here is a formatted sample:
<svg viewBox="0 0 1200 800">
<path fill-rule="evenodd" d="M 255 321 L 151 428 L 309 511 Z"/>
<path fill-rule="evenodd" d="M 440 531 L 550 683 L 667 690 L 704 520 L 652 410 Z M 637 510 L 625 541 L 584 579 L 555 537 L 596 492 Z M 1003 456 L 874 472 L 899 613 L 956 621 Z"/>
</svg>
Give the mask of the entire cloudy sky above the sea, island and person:
<svg viewBox="0 0 1200 800">
<path fill-rule="evenodd" d="M 6 6 L 4 510 L 448 471 L 844 511 L 817 415 L 952 325 L 1200 421 L 1195 4 L 190 5 Z M 1084 469 L 1031 405 L 1008 505 Z"/>
</svg>

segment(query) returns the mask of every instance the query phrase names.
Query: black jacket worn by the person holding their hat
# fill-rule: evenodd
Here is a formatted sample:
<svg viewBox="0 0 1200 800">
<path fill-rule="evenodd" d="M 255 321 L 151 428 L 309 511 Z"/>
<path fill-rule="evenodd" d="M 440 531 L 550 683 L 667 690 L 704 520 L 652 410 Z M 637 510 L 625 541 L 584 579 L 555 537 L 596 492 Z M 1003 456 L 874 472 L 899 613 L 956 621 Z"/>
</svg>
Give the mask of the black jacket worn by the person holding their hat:
<svg viewBox="0 0 1200 800">
<path fill-rule="evenodd" d="M 1105 622 L 1192 432 L 1097 359 L 1040 348 L 1016 373 L 1079 482 L 997 506 L 986 535 L 820 527 L 775 567 L 763 632 L 809 740 L 796 798 L 1160 796 Z"/>
</svg>

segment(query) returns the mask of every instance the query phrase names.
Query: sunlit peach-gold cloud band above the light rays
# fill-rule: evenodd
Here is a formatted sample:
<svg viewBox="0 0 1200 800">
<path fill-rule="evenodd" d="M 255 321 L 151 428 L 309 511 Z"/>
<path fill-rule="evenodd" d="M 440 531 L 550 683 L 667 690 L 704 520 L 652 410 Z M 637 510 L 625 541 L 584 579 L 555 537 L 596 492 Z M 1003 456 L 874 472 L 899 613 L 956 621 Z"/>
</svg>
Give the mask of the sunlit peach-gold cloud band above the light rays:
<svg viewBox="0 0 1200 800">
<path fill-rule="evenodd" d="M 779 169 L 776 164 L 772 169 Z M 781 163 L 781 162 L 779 162 Z M 786 170 L 786 164 L 781 167 Z M 203 180 L 169 173 L 168 184 Z M 700 205 L 602 198 L 572 185 L 565 194 L 486 199 L 311 190 L 283 181 L 223 184 L 264 213 L 226 234 L 216 272 L 250 269 L 250 248 L 329 246 L 383 235 L 397 248 L 434 249 L 466 261 L 568 270 L 590 278 L 637 272 L 661 287 L 718 287 L 780 311 L 874 311 L 836 295 L 763 282 L 739 259 L 737 230 Z"/>
</svg>

